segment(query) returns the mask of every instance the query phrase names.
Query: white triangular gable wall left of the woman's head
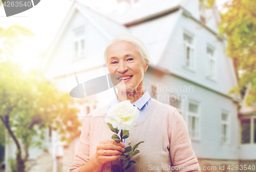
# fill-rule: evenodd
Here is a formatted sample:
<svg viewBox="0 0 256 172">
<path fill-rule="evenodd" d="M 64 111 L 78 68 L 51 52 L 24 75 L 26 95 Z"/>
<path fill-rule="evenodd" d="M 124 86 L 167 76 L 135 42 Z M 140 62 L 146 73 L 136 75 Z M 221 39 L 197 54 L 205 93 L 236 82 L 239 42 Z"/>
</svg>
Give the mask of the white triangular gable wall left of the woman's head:
<svg viewBox="0 0 256 172">
<path fill-rule="evenodd" d="M 83 30 L 83 35 L 78 39 L 76 37 L 77 30 Z M 78 42 L 78 46 L 81 46 L 79 42 L 81 40 L 84 44 L 84 53 L 82 56 L 76 56 L 75 44 Z M 55 78 L 70 74 L 67 69 L 82 59 L 89 57 L 103 59 L 103 51 L 108 41 L 108 37 L 100 32 L 97 26 L 91 24 L 87 17 L 75 10 L 62 32 L 62 36 L 58 39 L 54 51 L 49 54 L 46 67 L 47 76 Z M 94 64 L 89 66 L 93 68 Z M 84 69 L 84 66 L 76 66 L 76 72 Z"/>
</svg>

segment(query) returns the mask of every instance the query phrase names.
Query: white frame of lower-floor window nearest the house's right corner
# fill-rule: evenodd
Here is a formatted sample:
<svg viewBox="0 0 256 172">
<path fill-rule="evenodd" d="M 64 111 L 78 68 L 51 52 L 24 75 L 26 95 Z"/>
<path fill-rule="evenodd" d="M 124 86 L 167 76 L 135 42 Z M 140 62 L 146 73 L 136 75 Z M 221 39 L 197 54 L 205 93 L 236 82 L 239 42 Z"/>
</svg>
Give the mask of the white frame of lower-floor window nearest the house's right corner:
<svg viewBox="0 0 256 172">
<path fill-rule="evenodd" d="M 227 120 L 222 119 L 222 114 L 227 115 Z M 226 125 L 226 135 L 223 133 L 223 128 Z M 227 111 L 221 112 L 221 143 L 230 144 L 230 114 Z"/>
</svg>

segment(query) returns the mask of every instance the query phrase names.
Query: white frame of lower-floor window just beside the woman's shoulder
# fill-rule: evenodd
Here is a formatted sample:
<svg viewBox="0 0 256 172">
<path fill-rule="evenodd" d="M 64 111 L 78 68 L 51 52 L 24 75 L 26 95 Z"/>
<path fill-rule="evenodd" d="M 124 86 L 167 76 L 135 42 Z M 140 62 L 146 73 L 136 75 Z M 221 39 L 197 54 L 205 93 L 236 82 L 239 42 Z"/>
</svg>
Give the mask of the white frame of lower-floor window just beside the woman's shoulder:
<svg viewBox="0 0 256 172">
<path fill-rule="evenodd" d="M 195 104 L 198 106 L 198 112 L 197 113 L 193 113 L 189 111 L 189 104 Z M 187 129 L 188 129 L 188 133 L 190 136 L 191 140 L 200 140 L 200 104 L 198 102 L 195 101 L 188 101 L 188 107 L 187 107 Z M 196 119 L 196 123 L 195 123 L 195 131 L 193 131 L 192 128 L 192 118 Z M 195 136 L 194 136 L 195 135 Z"/>
</svg>

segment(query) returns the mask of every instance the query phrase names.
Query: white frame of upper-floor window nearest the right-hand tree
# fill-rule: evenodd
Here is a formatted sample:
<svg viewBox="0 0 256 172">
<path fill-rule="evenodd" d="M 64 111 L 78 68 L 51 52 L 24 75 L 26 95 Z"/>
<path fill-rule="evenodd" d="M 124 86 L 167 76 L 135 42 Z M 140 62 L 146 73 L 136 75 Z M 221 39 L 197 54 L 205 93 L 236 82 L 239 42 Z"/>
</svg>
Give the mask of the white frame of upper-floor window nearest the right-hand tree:
<svg viewBox="0 0 256 172">
<path fill-rule="evenodd" d="M 212 51 L 212 55 L 208 53 L 208 49 Z M 216 80 L 217 76 L 217 61 L 216 61 L 216 50 L 211 46 L 206 47 L 207 54 L 207 77 Z M 212 65 L 214 63 L 214 65 Z"/>
</svg>

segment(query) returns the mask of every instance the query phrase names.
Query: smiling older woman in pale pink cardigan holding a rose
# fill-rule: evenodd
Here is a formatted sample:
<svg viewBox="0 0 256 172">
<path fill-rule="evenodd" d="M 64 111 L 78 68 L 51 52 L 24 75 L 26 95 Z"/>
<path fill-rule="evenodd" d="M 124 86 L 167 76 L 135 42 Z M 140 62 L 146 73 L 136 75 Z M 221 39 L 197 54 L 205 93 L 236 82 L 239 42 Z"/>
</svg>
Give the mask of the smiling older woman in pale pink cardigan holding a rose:
<svg viewBox="0 0 256 172">
<path fill-rule="evenodd" d="M 106 46 L 104 60 L 110 74 L 122 76 L 122 84 L 115 86 L 117 97 L 97 112 L 105 116 L 113 104 L 124 100 L 130 100 L 140 111 L 130 137 L 125 139 L 127 146 L 144 141 L 140 153 L 131 157 L 136 164 L 129 171 L 200 171 L 182 116 L 143 89 L 143 76 L 151 61 L 143 42 L 134 35 L 120 34 Z M 111 165 L 120 163 L 117 158 L 125 147 L 113 141 L 112 135 L 104 118 L 86 118 L 70 172 L 111 172 Z"/>
</svg>

